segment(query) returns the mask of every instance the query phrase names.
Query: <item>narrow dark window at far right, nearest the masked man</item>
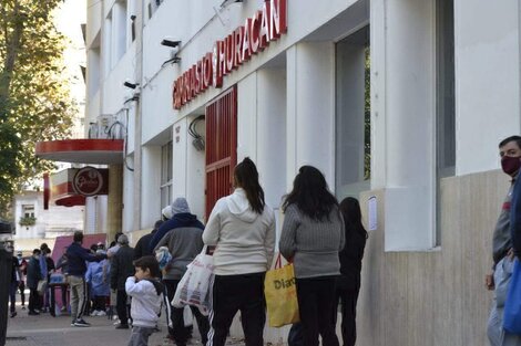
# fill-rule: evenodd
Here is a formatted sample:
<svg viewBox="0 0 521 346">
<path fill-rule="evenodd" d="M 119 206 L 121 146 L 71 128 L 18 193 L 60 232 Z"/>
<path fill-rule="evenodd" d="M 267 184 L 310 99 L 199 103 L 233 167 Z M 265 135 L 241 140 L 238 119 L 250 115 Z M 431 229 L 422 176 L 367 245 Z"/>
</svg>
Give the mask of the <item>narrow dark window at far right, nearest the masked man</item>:
<svg viewBox="0 0 521 346">
<path fill-rule="evenodd" d="M 436 244 L 441 244 L 441 179 L 456 171 L 454 4 L 437 0 L 436 8 L 437 193 Z"/>
</svg>

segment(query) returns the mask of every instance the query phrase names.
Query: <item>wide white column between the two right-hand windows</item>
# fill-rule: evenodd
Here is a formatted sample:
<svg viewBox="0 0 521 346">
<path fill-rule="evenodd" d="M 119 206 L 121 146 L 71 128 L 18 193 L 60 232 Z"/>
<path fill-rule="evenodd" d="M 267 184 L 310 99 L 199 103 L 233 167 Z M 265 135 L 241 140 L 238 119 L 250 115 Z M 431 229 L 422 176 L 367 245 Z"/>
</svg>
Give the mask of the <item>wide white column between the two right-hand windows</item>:
<svg viewBox="0 0 521 346">
<path fill-rule="evenodd" d="M 380 1 L 377 1 L 380 2 Z M 436 45 L 435 1 L 386 1 L 371 7 L 377 61 L 372 99 L 375 130 L 374 171 L 385 180 L 385 248 L 388 251 L 425 250 L 435 245 L 436 205 Z M 385 41 L 381 41 L 381 33 Z M 374 52 L 378 59 L 378 55 Z M 385 77 L 385 83 L 380 80 Z M 380 97 L 384 97 L 380 101 Z M 382 104 L 384 103 L 384 104 Z M 377 114 L 378 112 L 378 114 Z M 385 151 L 384 151 L 385 150 Z M 381 155 L 385 155 L 382 159 Z"/>
</svg>

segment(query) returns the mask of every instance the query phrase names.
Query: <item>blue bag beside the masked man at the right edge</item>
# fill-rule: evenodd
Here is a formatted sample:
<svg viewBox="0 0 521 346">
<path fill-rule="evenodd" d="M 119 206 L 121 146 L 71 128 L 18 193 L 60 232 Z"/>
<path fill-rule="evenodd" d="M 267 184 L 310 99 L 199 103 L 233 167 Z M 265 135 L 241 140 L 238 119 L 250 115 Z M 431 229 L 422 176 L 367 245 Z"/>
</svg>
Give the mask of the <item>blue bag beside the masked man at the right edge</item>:
<svg viewBox="0 0 521 346">
<path fill-rule="evenodd" d="M 521 334 L 521 266 L 518 259 L 513 264 L 509 292 L 504 302 L 503 328 L 512 334 Z"/>
</svg>

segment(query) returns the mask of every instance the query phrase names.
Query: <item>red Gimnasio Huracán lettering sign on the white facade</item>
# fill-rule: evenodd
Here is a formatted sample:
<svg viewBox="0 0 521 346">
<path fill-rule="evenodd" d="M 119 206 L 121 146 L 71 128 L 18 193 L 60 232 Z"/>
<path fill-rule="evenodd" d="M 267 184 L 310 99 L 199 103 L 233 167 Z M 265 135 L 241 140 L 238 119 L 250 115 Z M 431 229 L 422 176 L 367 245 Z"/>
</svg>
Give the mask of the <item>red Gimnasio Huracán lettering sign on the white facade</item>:
<svg viewBox="0 0 521 346">
<path fill-rule="evenodd" d="M 174 82 L 174 108 L 181 109 L 210 86 L 221 87 L 225 75 L 286 33 L 286 9 L 287 0 L 267 0 L 263 10 L 246 19 L 244 25 L 215 42 L 213 52 L 206 53 Z"/>
</svg>

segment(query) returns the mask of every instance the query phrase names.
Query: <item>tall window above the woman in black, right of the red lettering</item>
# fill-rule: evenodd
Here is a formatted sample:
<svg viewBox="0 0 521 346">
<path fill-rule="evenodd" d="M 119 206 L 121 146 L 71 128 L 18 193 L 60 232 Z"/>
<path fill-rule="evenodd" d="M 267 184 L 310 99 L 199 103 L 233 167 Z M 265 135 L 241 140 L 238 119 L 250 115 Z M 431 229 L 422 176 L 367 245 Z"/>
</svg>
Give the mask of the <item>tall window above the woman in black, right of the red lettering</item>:
<svg viewBox="0 0 521 346">
<path fill-rule="evenodd" d="M 336 193 L 370 188 L 369 27 L 336 44 Z"/>
</svg>

